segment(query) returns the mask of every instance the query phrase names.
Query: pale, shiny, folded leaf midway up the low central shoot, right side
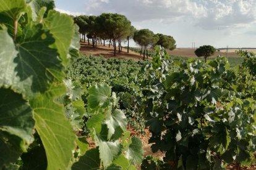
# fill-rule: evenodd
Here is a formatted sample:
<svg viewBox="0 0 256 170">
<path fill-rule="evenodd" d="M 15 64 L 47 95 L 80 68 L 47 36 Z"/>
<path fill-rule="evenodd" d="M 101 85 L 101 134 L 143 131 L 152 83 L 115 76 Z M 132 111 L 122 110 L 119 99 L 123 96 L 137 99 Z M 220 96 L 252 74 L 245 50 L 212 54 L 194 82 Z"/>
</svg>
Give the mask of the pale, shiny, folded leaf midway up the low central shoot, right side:
<svg viewBox="0 0 256 170">
<path fill-rule="evenodd" d="M 124 115 L 121 110 L 116 109 L 113 111 L 113 113 L 107 113 L 105 124 L 108 126 L 108 139 L 110 139 L 111 136 L 113 136 L 114 132 L 118 130 L 117 127 L 121 127 L 122 132 L 126 131 L 126 115 Z"/>
</svg>

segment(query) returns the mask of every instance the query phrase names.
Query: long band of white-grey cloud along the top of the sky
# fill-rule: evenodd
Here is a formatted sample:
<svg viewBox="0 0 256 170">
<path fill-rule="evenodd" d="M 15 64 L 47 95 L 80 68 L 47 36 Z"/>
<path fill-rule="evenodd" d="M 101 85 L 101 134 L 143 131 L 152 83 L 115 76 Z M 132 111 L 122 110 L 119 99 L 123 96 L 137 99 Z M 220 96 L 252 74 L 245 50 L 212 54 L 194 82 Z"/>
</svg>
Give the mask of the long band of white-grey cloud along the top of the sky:
<svg viewBox="0 0 256 170">
<path fill-rule="evenodd" d="M 132 22 L 192 20 L 205 30 L 237 28 L 256 21 L 255 0 L 90 0 L 85 11 L 119 13 Z"/>
</svg>

